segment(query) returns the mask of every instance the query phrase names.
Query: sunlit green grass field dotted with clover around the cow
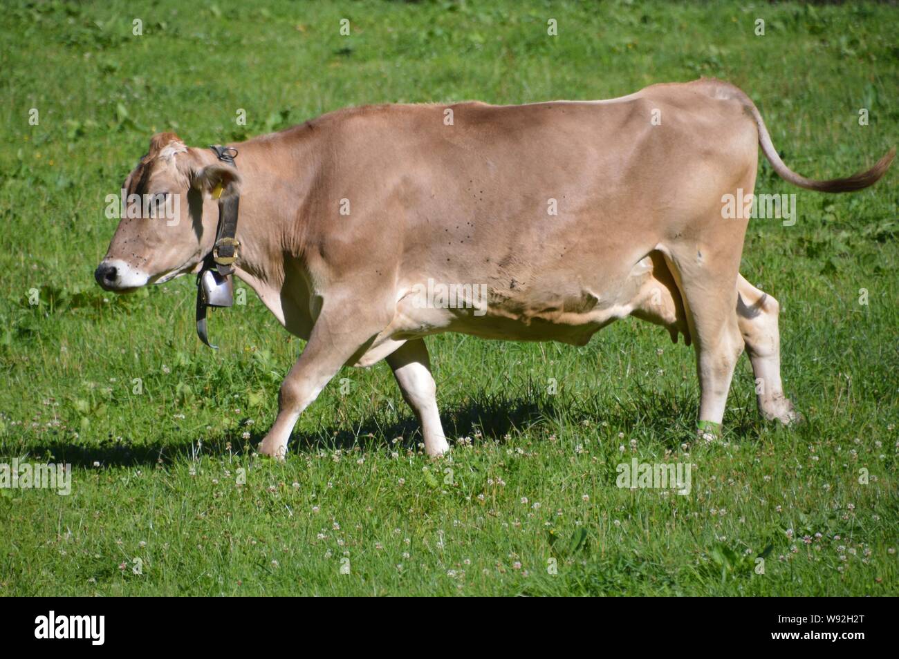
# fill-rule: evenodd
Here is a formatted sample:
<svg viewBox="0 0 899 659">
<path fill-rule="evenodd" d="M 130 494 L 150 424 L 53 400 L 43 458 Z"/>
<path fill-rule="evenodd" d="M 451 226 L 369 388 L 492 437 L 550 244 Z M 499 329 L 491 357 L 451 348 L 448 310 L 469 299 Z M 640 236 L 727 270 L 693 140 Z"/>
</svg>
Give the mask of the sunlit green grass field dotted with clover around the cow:
<svg viewBox="0 0 899 659">
<path fill-rule="evenodd" d="M 899 143 L 895 5 L 3 13 L 0 462 L 74 473 L 69 496 L 0 489 L 0 594 L 899 594 L 895 170 L 825 196 L 761 165 L 757 192 L 797 194 L 798 221 L 753 221 L 741 271 L 782 305 L 806 422 L 761 421 L 743 357 L 711 443 L 693 430 L 692 348 L 628 320 L 582 348 L 429 339 L 454 440 L 441 461 L 387 365 L 345 369 L 277 463 L 252 447 L 302 341 L 252 292 L 212 315 L 212 352 L 192 277 L 118 297 L 93 283 L 115 228 L 104 199 L 167 129 L 202 146 L 347 105 L 599 99 L 713 75 L 759 105 L 793 169 L 847 175 Z M 690 495 L 617 488 L 633 457 L 689 461 Z"/>
</svg>

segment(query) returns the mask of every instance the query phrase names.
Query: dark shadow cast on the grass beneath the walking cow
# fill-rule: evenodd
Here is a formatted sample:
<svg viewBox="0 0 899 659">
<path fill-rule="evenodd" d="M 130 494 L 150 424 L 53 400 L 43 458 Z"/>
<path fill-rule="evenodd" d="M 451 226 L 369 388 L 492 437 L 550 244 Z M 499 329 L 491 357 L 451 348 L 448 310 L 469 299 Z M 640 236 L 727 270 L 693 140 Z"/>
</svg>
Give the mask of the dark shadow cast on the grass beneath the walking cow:
<svg viewBox="0 0 899 659">
<path fill-rule="evenodd" d="M 600 425 L 629 432 L 639 426 L 643 434 L 658 437 L 664 448 L 674 449 L 690 438 L 685 417 L 696 413 L 697 401 L 689 394 L 661 393 L 643 390 L 636 385 L 628 400 L 617 400 L 611 407 L 603 407 L 608 398 L 599 400 L 587 396 L 549 396 L 537 391 L 522 396 L 476 394 L 466 403 L 441 408 L 443 429 L 450 440 L 471 439 L 472 444 L 496 442 L 503 444 L 509 435 L 527 429 L 557 426 L 564 419 L 565 427 L 579 426 L 589 434 Z M 759 418 L 754 408 L 738 407 L 729 411 L 725 425 L 734 439 L 756 440 Z M 266 428 L 243 434 L 245 428 L 222 435 L 204 438 L 200 446 L 195 442 L 158 442 L 154 444 L 108 443 L 99 445 L 67 444 L 53 441 L 32 446 L 32 460 L 67 462 L 75 467 L 164 467 L 174 461 L 196 455 L 246 456 L 262 441 Z M 321 424 L 311 430 L 295 431 L 289 443 L 289 453 L 316 453 L 322 450 L 352 449 L 361 451 L 420 450 L 422 441 L 417 419 L 402 402 L 385 406 L 373 415 L 348 419 L 341 424 Z"/>
</svg>

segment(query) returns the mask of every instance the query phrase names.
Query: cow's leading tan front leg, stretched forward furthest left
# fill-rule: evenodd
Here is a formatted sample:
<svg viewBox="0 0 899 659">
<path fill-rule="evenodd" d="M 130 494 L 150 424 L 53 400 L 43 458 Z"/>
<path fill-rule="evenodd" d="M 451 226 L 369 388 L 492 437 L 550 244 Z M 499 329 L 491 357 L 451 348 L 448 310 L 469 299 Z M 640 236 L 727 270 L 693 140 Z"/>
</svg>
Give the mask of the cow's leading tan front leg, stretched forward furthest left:
<svg viewBox="0 0 899 659">
<path fill-rule="evenodd" d="M 369 328 L 369 329 L 366 329 Z M 280 460 L 287 454 L 287 443 L 299 415 L 312 404 L 325 384 L 364 352 L 378 329 L 359 318 L 343 314 L 319 316 L 309 341 L 297 363 L 290 368 L 278 395 L 278 417 L 259 444 L 259 453 Z"/>
</svg>

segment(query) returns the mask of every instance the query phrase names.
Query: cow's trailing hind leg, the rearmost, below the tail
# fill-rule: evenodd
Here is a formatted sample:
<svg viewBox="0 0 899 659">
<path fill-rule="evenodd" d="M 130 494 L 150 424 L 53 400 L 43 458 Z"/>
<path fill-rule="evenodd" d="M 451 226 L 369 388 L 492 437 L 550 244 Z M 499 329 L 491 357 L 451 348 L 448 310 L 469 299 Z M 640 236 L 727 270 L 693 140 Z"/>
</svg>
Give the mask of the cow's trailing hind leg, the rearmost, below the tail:
<svg viewBox="0 0 899 659">
<path fill-rule="evenodd" d="M 778 301 L 737 277 L 736 317 L 755 373 L 759 411 L 767 419 L 789 424 L 798 418 L 780 382 Z"/>
</svg>

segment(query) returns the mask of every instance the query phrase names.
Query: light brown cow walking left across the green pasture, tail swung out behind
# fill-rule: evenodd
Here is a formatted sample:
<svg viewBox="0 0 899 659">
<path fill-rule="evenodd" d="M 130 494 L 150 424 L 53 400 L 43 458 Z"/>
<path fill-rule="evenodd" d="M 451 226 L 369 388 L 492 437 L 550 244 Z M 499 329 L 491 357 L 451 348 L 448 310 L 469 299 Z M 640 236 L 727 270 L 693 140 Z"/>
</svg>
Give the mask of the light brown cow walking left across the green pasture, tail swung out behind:
<svg viewBox="0 0 899 659">
<path fill-rule="evenodd" d="M 752 198 L 759 146 L 783 179 L 823 192 L 867 188 L 895 155 L 807 179 L 749 97 L 707 78 L 605 101 L 350 108 L 229 146 L 236 166 L 153 136 L 124 188 L 179 196 L 180 221 L 121 219 L 95 278 L 126 292 L 200 271 L 220 202 L 239 198 L 234 272 L 307 340 L 258 447 L 279 459 L 343 365 L 387 360 L 437 456 L 449 444 L 424 337 L 583 346 L 626 316 L 695 345 L 700 435 L 720 432 L 744 348 L 761 415 L 789 424 L 779 303 L 739 273 L 750 218 L 725 217 L 723 199 Z"/>
</svg>

